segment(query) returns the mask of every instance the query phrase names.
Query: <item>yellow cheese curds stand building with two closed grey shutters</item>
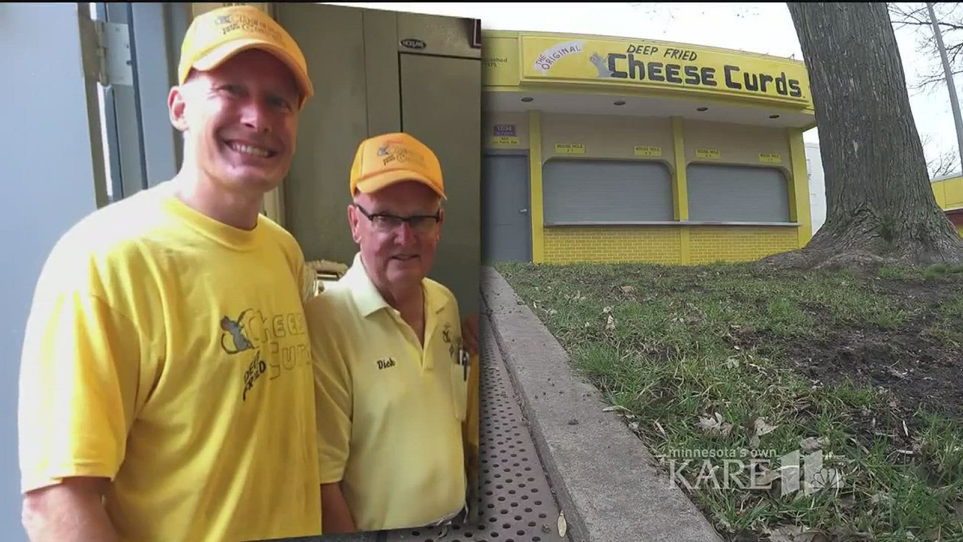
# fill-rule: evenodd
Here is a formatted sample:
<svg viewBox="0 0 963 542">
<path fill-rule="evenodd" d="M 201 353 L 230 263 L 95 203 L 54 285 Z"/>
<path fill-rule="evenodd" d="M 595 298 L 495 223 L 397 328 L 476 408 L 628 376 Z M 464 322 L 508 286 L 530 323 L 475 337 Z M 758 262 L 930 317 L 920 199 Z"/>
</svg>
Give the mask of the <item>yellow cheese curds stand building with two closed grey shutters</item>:
<svg viewBox="0 0 963 542">
<path fill-rule="evenodd" d="M 489 31 L 481 79 L 485 261 L 739 261 L 811 236 L 802 62 Z"/>
</svg>

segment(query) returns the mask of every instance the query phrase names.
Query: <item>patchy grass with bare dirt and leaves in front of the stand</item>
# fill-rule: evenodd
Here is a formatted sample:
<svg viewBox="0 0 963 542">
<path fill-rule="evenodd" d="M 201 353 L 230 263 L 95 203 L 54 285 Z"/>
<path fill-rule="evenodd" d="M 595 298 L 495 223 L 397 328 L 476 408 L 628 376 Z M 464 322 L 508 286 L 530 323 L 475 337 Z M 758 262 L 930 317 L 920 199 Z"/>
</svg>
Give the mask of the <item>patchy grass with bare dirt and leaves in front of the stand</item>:
<svg viewBox="0 0 963 542">
<path fill-rule="evenodd" d="M 833 540 L 963 540 L 963 417 L 928 408 L 959 406 L 963 377 L 957 390 L 930 366 L 904 366 L 925 354 L 936 370 L 959 352 L 963 275 L 498 268 L 730 539 L 800 526 Z M 912 394 L 924 388 L 944 394 L 924 405 Z M 749 469 L 753 456 L 773 468 L 794 452 L 821 454 L 798 491 Z"/>
</svg>

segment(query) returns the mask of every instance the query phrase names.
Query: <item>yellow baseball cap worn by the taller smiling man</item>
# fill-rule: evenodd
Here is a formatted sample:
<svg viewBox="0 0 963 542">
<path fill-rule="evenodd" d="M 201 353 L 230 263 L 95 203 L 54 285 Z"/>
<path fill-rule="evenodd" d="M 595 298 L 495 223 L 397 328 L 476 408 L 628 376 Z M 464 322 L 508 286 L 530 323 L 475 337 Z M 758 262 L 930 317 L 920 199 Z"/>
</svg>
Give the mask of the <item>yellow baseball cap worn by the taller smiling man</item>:
<svg viewBox="0 0 963 542">
<path fill-rule="evenodd" d="M 191 21 L 181 44 L 179 84 L 184 84 L 191 68 L 214 69 L 247 49 L 263 49 L 291 68 L 301 90 L 300 106 L 314 95 L 307 75 L 307 63 L 298 43 L 271 15 L 253 6 L 226 6 L 199 14 Z"/>
</svg>

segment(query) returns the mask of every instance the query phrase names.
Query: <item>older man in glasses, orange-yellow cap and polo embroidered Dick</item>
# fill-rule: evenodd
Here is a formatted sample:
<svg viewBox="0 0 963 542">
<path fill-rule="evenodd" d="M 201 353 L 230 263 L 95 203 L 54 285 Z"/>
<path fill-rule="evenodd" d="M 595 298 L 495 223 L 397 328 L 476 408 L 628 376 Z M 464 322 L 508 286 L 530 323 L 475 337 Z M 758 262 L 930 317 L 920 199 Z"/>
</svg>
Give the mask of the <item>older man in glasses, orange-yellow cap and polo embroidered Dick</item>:
<svg viewBox="0 0 963 542">
<path fill-rule="evenodd" d="M 306 308 L 325 532 L 425 526 L 465 506 L 467 355 L 455 296 L 427 278 L 444 222 L 438 159 L 403 133 L 351 168 L 359 252 Z"/>
</svg>

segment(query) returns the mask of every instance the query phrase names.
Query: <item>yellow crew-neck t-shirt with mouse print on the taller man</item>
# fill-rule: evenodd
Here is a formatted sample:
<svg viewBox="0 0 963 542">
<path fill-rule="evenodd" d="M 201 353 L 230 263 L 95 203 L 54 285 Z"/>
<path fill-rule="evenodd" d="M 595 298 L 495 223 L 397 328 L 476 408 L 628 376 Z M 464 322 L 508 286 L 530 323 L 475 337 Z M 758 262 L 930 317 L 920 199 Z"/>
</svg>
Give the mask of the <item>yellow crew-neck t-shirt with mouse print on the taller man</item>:
<svg viewBox="0 0 963 542">
<path fill-rule="evenodd" d="M 24 492 L 113 479 L 124 542 L 321 532 L 308 280 L 290 233 L 172 184 L 95 211 L 44 265 L 20 374 Z"/>
</svg>

